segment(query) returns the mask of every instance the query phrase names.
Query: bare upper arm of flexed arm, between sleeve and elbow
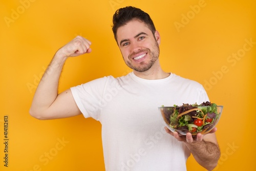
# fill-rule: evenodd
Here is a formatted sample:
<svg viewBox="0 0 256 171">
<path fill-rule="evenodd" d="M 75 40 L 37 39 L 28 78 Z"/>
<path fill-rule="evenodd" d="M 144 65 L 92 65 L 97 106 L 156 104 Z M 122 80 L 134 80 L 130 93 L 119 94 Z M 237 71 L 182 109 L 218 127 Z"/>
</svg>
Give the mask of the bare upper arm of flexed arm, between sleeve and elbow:
<svg viewBox="0 0 256 171">
<path fill-rule="evenodd" d="M 47 111 L 45 119 L 73 117 L 81 114 L 70 89 L 58 94 Z"/>
</svg>

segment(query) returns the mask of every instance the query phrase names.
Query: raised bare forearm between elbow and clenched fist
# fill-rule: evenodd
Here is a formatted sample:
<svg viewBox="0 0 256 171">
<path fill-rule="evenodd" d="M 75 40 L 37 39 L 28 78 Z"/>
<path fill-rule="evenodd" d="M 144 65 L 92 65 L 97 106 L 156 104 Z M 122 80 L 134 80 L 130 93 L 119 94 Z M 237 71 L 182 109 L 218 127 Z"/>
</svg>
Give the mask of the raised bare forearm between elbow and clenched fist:
<svg viewBox="0 0 256 171">
<path fill-rule="evenodd" d="M 58 95 L 58 82 L 66 58 L 54 55 L 50 65 L 42 76 L 36 89 L 30 114 L 40 119 Z"/>
</svg>

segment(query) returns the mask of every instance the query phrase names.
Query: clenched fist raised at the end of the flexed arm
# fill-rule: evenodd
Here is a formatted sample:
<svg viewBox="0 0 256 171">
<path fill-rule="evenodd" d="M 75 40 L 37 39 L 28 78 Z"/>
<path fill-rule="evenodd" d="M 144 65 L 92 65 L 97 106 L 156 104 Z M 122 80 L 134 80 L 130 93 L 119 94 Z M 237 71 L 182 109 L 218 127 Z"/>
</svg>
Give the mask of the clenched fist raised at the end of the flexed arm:
<svg viewBox="0 0 256 171">
<path fill-rule="evenodd" d="M 90 53 L 92 51 L 92 49 L 90 48 L 91 44 L 91 41 L 89 41 L 88 39 L 81 36 L 76 36 L 68 44 L 60 48 L 55 55 L 68 58 L 79 56 L 85 53 Z"/>
</svg>

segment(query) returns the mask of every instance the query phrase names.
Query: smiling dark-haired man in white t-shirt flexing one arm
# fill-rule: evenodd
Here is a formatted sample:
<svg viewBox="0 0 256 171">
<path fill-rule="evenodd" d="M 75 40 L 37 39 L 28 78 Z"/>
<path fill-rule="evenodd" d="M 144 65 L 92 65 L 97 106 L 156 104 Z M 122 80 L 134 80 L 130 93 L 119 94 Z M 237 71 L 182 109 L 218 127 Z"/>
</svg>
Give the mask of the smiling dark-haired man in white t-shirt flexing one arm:
<svg viewBox="0 0 256 171">
<path fill-rule="evenodd" d="M 181 137 L 163 127 L 158 113 L 161 105 L 208 101 L 201 84 L 161 69 L 160 35 L 147 13 L 121 8 L 113 16 L 112 30 L 133 72 L 98 78 L 58 94 L 67 58 L 91 52 L 91 42 L 77 36 L 54 55 L 48 67 L 53 72 L 42 77 L 30 114 L 56 119 L 82 113 L 99 120 L 106 170 L 186 170 L 190 153 L 200 165 L 214 169 L 220 157 L 216 129 L 194 139 L 190 133 Z"/>
</svg>

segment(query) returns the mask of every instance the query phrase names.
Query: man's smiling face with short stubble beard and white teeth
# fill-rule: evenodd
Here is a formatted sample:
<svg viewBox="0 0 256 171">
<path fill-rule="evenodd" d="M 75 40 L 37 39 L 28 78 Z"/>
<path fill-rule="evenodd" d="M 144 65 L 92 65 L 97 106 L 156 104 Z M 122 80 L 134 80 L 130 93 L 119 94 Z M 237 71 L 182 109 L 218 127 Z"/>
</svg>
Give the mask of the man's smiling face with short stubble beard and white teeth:
<svg viewBox="0 0 256 171">
<path fill-rule="evenodd" d="M 148 71 L 158 60 L 159 33 L 137 19 L 117 29 L 117 43 L 126 65 L 137 72 Z"/>
</svg>

